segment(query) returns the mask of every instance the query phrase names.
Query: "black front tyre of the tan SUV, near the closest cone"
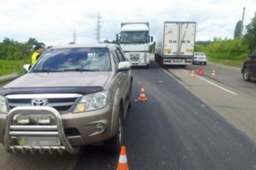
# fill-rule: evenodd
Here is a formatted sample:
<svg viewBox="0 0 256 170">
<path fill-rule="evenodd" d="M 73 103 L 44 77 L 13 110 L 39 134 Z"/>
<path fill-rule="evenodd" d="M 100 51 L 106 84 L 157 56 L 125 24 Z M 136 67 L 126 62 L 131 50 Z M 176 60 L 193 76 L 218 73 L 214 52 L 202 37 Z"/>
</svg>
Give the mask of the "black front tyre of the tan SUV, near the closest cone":
<svg viewBox="0 0 256 170">
<path fill-rule="evenodd" d="M 110 154 L 120 153 L 120 148 L 123 144 L 123 108 L 120 108 L 119 118 L 118 118 L 118 133 L 109 140 L 104 142 L 104 151 Z"/>
</svg>

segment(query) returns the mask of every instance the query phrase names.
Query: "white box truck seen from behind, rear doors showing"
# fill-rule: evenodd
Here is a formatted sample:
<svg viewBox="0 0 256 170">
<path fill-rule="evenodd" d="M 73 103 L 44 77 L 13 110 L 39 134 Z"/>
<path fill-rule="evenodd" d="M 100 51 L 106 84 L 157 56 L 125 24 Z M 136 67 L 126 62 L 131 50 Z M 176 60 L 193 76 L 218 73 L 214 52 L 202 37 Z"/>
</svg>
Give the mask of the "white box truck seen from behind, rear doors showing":
<svg viewBox="0 0 256 170">
<path fill-rule="evenodd" d="M 196 22 L 164 22 L 156 33 L 154 59 L 165 65 L 191 64 L 195 47 Z"/>
</svg>

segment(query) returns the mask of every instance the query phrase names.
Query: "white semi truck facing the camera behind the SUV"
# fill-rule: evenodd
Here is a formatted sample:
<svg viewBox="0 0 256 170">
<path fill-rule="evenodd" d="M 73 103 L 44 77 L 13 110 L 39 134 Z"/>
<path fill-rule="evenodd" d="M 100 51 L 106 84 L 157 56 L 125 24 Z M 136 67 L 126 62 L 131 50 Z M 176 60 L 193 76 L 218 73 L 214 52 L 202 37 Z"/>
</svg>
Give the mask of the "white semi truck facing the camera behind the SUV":
<svg viewBox="0 0 256 170">
<path fill-rule="evenodd" d="M 149 68 L 149 42 L 153 42 L 153 37 L 149 36 L 149 22 L 121 23 L 116 41 L 120 43 L 131 66 Z"/>
</svg>

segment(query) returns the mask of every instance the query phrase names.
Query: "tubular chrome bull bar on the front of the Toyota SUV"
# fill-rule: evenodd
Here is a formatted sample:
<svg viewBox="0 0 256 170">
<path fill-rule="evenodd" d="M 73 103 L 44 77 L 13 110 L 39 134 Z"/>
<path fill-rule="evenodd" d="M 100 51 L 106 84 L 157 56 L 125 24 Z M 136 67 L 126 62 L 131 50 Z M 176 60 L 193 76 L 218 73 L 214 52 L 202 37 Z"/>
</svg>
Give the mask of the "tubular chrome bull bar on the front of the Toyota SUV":
<svg viewBox="0 0 256 170">
<path fill-rule="evenodd" d="M 14 115 L 18 113 L 26 113 L 27 115 L 46 113 L 53 115 L 56 121 L 56 126 L 12 125 Z M 10 138 L 12 136 L 58 136 L 63 146 L 12 146 L 10 143 Z M 78 154 L 79 152 L 79 147 L 76 148 L 71 146 L 71 144 L 65 136 L 61 114 L 58 113 L 58 111 L 55 108 L 49 106 L 18 106 L 10 110 L 9 113 L 6 115 L 4 149 L 7 152 L 11 150 L 13 153 L 17 153 L 17 151 L 22 151 L 23 154 L 27 153 L 27 151 L 30 151 L 31 154 L 35 154 L 35 151 L 39 151 L 40 154 L 45 154 L 45 151 L 48 151 L 50 154 L 54 154 L 57 151 L 59 154 L 63 154 L 63 151 L 67 151 L 69 152 L 69 154 Z"/>
</svg>

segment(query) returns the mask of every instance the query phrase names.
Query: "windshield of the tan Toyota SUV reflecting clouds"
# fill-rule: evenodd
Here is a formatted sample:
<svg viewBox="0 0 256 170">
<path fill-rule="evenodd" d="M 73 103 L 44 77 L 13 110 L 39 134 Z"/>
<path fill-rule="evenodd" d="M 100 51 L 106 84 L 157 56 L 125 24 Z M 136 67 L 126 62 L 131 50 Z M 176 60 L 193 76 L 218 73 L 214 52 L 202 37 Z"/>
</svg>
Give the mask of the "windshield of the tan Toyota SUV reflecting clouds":
<svg viewBox="0 0 256 170">
<path fill-rule="evenodd" d="M 110 71 L 107 48 L 48 49 L 32 68 L 32 72 Z"/>
</svg>

